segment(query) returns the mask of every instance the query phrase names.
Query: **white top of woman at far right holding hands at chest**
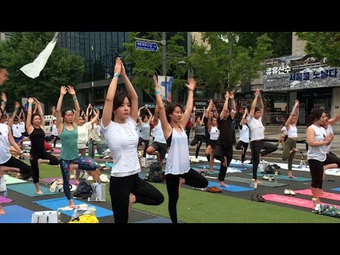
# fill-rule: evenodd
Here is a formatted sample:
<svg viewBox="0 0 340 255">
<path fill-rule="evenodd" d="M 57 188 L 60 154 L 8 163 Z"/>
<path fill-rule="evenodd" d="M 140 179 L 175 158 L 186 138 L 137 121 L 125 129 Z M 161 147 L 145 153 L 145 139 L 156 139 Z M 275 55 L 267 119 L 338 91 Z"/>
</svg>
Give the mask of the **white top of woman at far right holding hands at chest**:
<svg viewBox="0 0 340 255">
<path fill-rule="evenodd" d="M 310 125 L 310 128 L 312 128 L 315 132 L 315 142 L 324 141 L 326 138 L 326 130 L 322 127 L 317 127 L 316 125 Z M 326 145 L 317 146 L 317 147 L 308 147 L 308 154 L 307 159 L 316 159 L 319 162 L 324 162 L 326 160 Z"/>
</svg>

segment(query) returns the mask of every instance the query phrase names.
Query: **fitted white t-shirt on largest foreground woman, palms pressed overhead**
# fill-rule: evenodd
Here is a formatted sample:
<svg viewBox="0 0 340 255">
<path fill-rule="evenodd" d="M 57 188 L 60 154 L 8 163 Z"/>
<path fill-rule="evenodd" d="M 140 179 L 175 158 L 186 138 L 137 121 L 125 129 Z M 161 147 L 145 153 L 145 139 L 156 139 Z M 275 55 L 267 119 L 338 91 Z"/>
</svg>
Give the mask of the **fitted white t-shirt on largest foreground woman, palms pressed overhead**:
<svg viewBox="0 0 340 255">
<path fill-rule="evenodd" d="M 101 132 L 108 142 L 114 162 L 111 176 L 124 177 L 140 172 L 136 125 L 137 123 L 131 116 L 124 124 L 115 123 L 112 120 L 107 127 L 103 127 L 101 124 Z"/>
</svg>

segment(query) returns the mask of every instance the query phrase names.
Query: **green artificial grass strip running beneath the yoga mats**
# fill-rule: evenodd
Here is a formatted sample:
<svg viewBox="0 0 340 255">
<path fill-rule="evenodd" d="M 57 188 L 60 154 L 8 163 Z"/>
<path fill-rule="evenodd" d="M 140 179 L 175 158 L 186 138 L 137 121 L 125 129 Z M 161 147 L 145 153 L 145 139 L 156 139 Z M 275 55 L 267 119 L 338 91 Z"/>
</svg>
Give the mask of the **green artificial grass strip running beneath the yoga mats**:
<svg viewBox="0 0 340 255">
<path fill-rule="evenodd" d="M 29 164 L 29 161 L 25 162 Z M 40 179 L 57 176 L 62 178 L 59 167 L 42 164 Z M 162 192 L 164 203 L 158 206 L 134 204 L 132 208 L 169 217 L 166 186 L 162 183 L 152 185 Z M 106 200 L 110 201 L 108 186 L 106 185 Z M 181 188 L 177 203 L 177 216 L 181 222 L 195 223 L 340 223 L 335 217 L 184 187 Z"/>
</svg>

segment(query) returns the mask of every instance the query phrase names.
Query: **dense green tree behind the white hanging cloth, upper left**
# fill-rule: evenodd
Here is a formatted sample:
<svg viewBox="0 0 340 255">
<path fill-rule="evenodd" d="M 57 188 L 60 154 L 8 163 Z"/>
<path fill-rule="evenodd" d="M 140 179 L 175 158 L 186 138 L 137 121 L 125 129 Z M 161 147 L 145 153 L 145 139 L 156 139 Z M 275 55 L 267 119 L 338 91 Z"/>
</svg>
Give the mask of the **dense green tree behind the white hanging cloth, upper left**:
<svg viewBox="0 0 340 255">
<path fill-rule="evenodd" d="M 11 38 L 0 44 L 0 67 L 8 70 L 9 80 L 1 87 L 6 93 L 8 106 L 21 97 L 34 96 L 45 106 L 57 103 L 61 85 L 77 86 L 84 69 L 84 58 L 69 53 L 59 43 L 40 72 L 40 76 L 31 79 L 20 68 L 33 62 L 52 40 L 54 32 L 14 32 Z"/>
</svg>

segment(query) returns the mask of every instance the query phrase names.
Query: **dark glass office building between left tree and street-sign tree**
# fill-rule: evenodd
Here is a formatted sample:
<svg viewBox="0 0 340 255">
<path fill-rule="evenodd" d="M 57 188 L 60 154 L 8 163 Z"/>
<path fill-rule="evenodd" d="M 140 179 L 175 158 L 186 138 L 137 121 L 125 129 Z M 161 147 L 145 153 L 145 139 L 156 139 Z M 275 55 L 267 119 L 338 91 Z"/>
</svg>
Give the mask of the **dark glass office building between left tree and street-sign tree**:
<svg viewBox="0 0 340 255">
<path fill-rule="evenodd" d="M 61 33 L 61 47 L 85 59 L 85 75 L 78 84 L 77 92 L 81 108 L 93 102 L 98 108 L 103 106 L 108 85 L 113 77 L 115 58 L 123 57 L 125 51 L 124 42 L 130 42 L 128 32 Z M 129 63 L 125 63 L 125 69 L 131 77 Z M 92 98 L 92 81 L 94 81 L 94 98 Z"/>
</svg>

